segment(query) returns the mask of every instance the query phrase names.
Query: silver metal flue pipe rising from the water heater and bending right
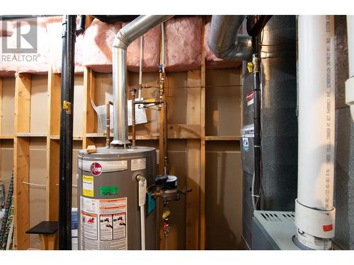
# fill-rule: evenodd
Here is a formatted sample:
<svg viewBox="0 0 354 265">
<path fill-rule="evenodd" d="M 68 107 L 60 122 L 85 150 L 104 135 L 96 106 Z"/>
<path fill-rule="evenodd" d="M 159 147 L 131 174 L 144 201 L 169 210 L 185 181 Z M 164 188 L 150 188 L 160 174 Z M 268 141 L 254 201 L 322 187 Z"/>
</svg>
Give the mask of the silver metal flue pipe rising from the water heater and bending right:
<svg viewBox="0 0 354 265">
<path fill-rule="evenodd" d="M 120 29 L 113 42 L 113 106 L 114 138 L 111 146 L 130 145 L 127 126 L 127 47 L 156 25 L 172 16 L 139 16 Z"/>
</svg>

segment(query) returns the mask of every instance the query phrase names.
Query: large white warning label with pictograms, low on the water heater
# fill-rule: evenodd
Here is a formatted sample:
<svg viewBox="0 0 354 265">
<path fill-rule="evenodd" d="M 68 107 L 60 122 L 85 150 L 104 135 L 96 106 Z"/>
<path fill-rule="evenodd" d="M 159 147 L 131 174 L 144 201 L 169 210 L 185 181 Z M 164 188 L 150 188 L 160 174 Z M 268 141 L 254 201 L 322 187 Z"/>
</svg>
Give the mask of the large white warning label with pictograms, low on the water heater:
<svg viewBox="0 0 354 265">
<path fill-rule="evenodd" d="M 84 209 L 86 211 L 84 211 Z M 88 213 L 90 212 L 90 213 Z M 81 249 L 127 249 L 127 198 L 88 199 L 81 197 Z M 95 226 L 96 225 L 96 226 Z"/>
</svg>

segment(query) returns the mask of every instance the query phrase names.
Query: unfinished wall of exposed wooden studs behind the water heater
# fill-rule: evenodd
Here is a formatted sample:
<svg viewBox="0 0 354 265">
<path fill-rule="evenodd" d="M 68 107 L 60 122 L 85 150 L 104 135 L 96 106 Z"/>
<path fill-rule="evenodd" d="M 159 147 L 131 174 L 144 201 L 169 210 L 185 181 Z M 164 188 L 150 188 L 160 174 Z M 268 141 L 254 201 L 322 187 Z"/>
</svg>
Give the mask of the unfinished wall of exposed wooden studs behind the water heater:
<svg viewBox="0 0 354 265">
<path fill-rule="evenodd" d="M 138 78 L 138 73 L 128 72 L 128 98 Z M 159 73 L 144 73 L 142 83 L 157 86 Z M 238 249 L 242 230 L 240 71 L 206 70 L 202 49 L 201 68 L 167 72 L 165 87 L 170 173 L 178 176 L 179 186 L 193 189 L 169 205 L 171 235 L 167 248 Z M 0 78 L 0 90 L 0 179 L 14 171 L 15 245 L 17 249 L 38 248 L 38 236 L 25 231 L 42 220 L 58 220 L 60 73 Z M 144 98 L 157 95 L 155 88 L 142 91 Z M 73 207 L 77 207 L 79 150 L 89 144 L 105 145 L 90 97 L 96 105 L 113 99 L 111 73 L 86 68 L 75 76 Z M 148 122 L 137 125 L 137 144 L 155 147 L 163 158 L 160 117 L 162 113 L 147 110 Z M 160 173 L 161 169 L 160 162 Z M 160 249 L 165 246 L 161 226 Z"/>
</svg>

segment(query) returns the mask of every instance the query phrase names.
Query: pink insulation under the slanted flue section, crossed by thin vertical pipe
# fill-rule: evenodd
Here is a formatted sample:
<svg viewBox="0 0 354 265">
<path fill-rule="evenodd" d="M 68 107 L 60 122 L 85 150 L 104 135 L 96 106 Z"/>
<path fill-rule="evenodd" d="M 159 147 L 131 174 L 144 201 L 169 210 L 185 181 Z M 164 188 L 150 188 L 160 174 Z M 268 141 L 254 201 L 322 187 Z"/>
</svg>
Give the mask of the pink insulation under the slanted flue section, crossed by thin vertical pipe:
<svg viewBox="0 0 354 265">
<path fill-rule="evenodd" d="M 123 23 L 122 27 L 127 25 Z M 158 72 L 160 64 L 161 25 L 144 34 L 142 71 Z M 134 40 L 127 49 L 127 68 L 129 71 L 139 72 L 140 37 Z"/>
</svg>

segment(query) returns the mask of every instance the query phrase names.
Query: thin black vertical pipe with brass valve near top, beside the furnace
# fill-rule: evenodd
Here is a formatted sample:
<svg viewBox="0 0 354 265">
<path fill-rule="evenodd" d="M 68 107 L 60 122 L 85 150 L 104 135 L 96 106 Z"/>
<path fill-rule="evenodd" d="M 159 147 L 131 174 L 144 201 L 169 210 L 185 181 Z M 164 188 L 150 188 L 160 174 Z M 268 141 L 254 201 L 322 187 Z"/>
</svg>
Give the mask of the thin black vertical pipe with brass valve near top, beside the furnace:
<svg viewBox="0 0 354 265">
<path fill-rule="evenodd" d="M 258 56 L 258 37 L 253 37 L 254 53 L 253 62 L 253 124 L 254 124 L 254 187 L 253 193 L 256 201 L 256 209 L 261 204 L 261 86 L 259 81 L 260 62 Z"/>
</svg>

